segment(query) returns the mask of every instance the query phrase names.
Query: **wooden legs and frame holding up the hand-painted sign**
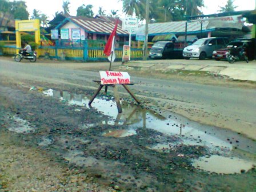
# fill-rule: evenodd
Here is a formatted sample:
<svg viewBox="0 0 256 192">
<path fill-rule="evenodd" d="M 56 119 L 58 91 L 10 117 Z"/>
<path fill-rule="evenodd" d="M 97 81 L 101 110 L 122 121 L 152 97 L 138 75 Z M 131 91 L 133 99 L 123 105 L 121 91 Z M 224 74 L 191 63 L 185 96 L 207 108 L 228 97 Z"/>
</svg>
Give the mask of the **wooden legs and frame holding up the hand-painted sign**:
<svg viewBox="0 0 256 192">
<path fill-rule="evenodd" d="M 114 87 L 114 98 L 115 98 L 115 101 L 117 102 L 117 110 L 118 110 L 118 113 L 122 113 L 122 106 L 121 106 L 121 103 L 120 103 L 120 98 L 119 98 L 119 94 L 118 94 L 118 89 L 117 89 L 117 85 L 116 84 L 105 84 L 103 85 L 101 83 L 101 81 L 97 81 L 97 80 L 94 80 L 93 82 L 96 82 L 99 84 L 99 87 L 98 87 L 98 90 L 96 91 L 96 93 L 93 95 L 93 98 L 91 98 L 90 102 L 88 103 L 89 106 L 91 106 L 91 103 L 93 103 L 95 97 L 97 97 L 97 95 L 99 94 L 99 91 L 101 91 L 102 87 L 105 86 L 105 89 L 106 87 Z M 133 99 L 138 103 L 140 104 L 139 100 L 135 97 L 135 95 L 133 93 L 131 93 L 130 89 L 127 87 L 127 85 L 134 85 L 133 83 L 120 83 L 118 85 L 122 85 L 125 90 L 131 95 L 131 97 L 133 97 Z"/>
</svg>

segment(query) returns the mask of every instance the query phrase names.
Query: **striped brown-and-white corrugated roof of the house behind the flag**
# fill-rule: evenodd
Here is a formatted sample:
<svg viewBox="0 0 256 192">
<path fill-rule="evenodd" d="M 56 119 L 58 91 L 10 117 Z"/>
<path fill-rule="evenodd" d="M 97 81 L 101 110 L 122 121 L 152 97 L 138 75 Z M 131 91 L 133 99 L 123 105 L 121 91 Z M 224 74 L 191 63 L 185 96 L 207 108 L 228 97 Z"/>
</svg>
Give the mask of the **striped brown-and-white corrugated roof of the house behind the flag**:
<svg viewBox="0 0 256 192">
<path fill-rule="evenodd" d="M 91 33 L 105 33 L 110 34 L 114 27 L 114 22 L 106 22 L 101 19 L 86 18 L 86 17 L 68 17 L 71 22 L 76 23 L 81 28 Z M 128 31 L 122 30 L 122 26 L 118 25 L 117 34 L 128 35 Z"/>
</svg>

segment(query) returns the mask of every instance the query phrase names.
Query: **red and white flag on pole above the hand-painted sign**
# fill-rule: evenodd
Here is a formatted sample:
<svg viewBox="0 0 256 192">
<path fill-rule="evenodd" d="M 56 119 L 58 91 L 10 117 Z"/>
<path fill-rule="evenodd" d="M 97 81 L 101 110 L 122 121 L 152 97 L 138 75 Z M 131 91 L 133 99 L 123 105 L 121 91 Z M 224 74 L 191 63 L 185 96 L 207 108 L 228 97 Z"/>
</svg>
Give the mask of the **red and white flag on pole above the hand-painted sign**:
<svg viewBox="0 0 256 192">
<path fill-rule="evenodd" d="M 118 20 L 115 23 L 114 30 L 112 31 L 111 35 L 109 36 L 109 39 L 107 39 L 107 43 L 106 43 L 106 46 L 104 49 L 104 53 L 105 53 L 105 55 L 108 56 L 107 58 L 109 59 L 110 62 L 115 61 L 115 35 L 117 34 L 117 26 L 118 26 Z"/>
</svg>

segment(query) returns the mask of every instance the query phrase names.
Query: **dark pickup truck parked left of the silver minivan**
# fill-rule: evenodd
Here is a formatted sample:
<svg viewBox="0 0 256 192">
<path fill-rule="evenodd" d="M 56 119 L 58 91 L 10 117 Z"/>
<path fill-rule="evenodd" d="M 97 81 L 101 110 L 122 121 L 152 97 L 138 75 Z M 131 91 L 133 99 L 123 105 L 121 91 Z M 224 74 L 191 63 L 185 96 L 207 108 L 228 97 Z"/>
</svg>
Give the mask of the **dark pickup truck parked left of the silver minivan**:
<svg viewBox="0 0 256 192">
<path fill-rule="evenodd" d="M 180 58 L 182 59 L 183 48 L 175 48 L 174 42 L 158 41 L 155 42 L 149 51 L 151 59 Z"/>
</svg>

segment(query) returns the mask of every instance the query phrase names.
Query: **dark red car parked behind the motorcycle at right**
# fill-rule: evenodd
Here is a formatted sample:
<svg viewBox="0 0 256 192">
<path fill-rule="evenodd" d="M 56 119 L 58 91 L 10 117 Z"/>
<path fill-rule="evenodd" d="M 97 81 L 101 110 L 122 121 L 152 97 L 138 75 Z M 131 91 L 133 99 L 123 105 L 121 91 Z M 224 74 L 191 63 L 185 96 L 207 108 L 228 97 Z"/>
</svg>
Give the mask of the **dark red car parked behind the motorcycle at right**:
<svg viewBox="0 0 256 192">
<path fill-rule="evenodd" d="M 227 52 L 230 49 L 242 46 L 243 43 L 247 43 L 248 47 L 250 47 L 250 50 L 246 50 L 246 53 L 247 53 L 247 56 L 249 57 L 249 60 L 252 60 L 254 57 L 253 57 L 253 53 L 251 53 L 251 52 L 254 51 L 254 49 L 253 49 L 254 43 L 251 39 L 245 39 L 245 38 L 236 39 L 235 41 L 228 43 L 222 49 L 213 51 L 213 59 L 215 59 L 217 61 L 219 61 L 221 59 L 227 59 L 226 58 Z"/>
</svg>

